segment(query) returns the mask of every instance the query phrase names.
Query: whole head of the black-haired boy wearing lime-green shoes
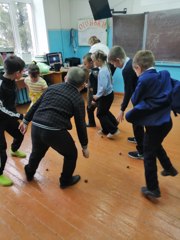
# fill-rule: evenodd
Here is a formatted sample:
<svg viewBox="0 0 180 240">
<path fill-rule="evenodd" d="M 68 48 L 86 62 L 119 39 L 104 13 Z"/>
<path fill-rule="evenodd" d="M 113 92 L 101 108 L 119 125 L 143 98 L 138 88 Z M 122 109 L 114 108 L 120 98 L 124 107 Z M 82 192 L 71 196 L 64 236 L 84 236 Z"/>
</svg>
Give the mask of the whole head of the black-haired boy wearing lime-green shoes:
<svg viewBox="0 0 180 240">
<path fill-rule="evenodd" d="M 12 79 L 20 79 L 23 74 L 25 62 L 16 55 L 11 55 L 4 60 L 5 74 Z"/>
</svg>

